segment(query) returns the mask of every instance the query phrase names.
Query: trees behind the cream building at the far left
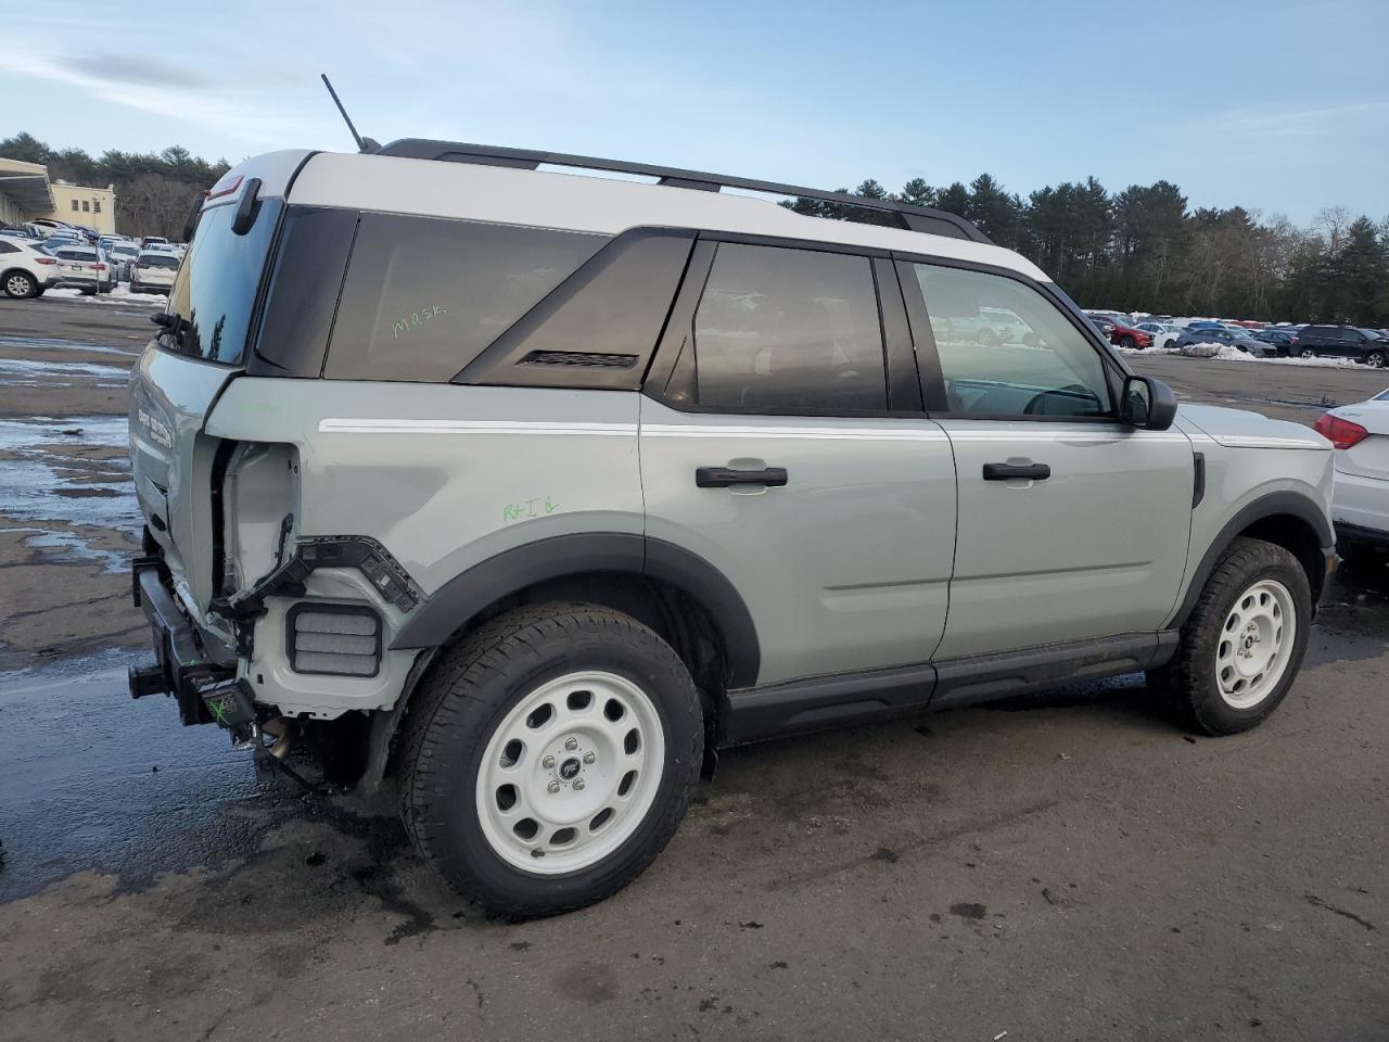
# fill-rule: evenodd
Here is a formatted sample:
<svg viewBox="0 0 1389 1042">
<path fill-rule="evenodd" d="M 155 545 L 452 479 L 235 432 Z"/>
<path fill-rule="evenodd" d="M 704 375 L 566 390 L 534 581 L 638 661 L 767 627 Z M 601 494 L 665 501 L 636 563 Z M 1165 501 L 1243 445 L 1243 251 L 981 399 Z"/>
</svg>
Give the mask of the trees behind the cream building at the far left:
<svg viewBox="0 0 1389 1042">
<path fill-rule="evenodd" d="M 193 204 L 228 171 L 226 160 L 194 158 L 178 144 L 158 154 L 110 149 L 93 158 L 82 149 L 50 149 L 22 132 L 0 140 L 0 156 L 42 163 L 50 179 L 88 188 L 115 185 L 115 226 L 121 232 L 163 235 L 174 242 L 183 238 Z M 69 220 L 68 214 L 57 217 Z"/>
</svg>

